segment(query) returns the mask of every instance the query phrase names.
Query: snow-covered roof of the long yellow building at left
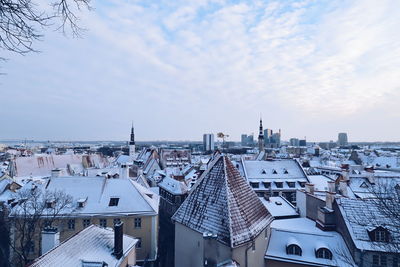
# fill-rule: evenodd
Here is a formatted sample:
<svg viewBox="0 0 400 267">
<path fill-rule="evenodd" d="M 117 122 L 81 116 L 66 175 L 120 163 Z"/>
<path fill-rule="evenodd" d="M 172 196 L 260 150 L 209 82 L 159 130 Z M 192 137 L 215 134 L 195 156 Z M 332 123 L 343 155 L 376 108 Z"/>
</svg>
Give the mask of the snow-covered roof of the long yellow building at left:
<svg viewBox="0 0 400 267">
<path fill-rule="evenodd" d="M 159 197 L 131 179 L 53 177 L 37 190 L 58 190 L 72 196 L 74 208 L 65 212 L 71 212 L 73 216 L 158 214 Z M 110 206 L 111 198 L 118 198 L 118 204 Z M 84 207 L 78 207 L 79 199 L 87 199 Z"/>
</svg>

